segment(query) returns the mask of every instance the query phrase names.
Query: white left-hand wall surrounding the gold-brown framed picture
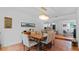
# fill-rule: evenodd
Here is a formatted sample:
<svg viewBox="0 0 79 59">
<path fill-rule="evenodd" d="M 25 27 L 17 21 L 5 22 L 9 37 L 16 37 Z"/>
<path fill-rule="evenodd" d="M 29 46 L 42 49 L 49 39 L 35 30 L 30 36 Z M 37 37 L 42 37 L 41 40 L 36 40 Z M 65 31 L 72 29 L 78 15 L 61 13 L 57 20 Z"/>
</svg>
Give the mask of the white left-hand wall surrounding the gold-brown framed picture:
<svg viewBox="0 0 79 59">
<path fill-rule="evenodd" d="M 2 21 L 2 39 L 1 44 L 2 46 L 9 46 L 12 44 L 19 43 L 19 22 L 18 20 L 21 18 L 21 14 L 15 11 L 5 11 L 0 10 L 0 20 Z M 12 17 L 12 29 L 4 29 L 4 17 L 5 16 L 11 16 Z M 18 17 L 18 18 L 17 18 Z"/>
</svg>

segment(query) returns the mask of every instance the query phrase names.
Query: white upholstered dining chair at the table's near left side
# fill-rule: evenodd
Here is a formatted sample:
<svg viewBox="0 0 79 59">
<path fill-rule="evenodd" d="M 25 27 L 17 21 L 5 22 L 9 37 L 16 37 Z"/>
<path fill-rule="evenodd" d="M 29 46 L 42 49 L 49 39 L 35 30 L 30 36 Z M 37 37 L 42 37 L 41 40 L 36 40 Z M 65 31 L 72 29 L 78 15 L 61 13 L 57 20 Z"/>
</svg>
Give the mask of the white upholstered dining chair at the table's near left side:
<svg viewBox="0 0 79 59">
<path fill-rule="evenodd" d="M 28 50 L 30 50 L 31 47 L 37 45 L 37 42 L 30 41 L 28 35 L 26 35 L 26 34 L 21 35 L 21 40 L 22 40 L 22 43 L 24 44 L 24 46 L 28 48 Z"/>
</svg>

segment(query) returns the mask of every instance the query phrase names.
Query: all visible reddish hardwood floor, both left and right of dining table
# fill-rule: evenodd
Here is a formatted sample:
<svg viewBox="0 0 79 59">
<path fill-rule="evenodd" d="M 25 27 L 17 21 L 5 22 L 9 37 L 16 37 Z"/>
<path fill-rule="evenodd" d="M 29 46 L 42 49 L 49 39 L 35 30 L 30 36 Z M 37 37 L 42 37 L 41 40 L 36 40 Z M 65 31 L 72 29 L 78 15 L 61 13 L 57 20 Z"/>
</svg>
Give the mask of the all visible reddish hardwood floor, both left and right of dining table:
<svg viewBox="0 0 79 59">
<path fill-rule="evenodd" d="M 37 47 L 32 47 L 31 51 L 36 51 Z M 26 49 L 27 50 L 27 49 Z M 55 39 L 52 48 L 45 48 L 46 51 L 79 51 L 77 46 L 72 46 L 71 41 Z M 22 43 L 12 45 L 9 47 L 1 48 L 1 51 L 24 51 L 24 45 Z"/>
</svg>

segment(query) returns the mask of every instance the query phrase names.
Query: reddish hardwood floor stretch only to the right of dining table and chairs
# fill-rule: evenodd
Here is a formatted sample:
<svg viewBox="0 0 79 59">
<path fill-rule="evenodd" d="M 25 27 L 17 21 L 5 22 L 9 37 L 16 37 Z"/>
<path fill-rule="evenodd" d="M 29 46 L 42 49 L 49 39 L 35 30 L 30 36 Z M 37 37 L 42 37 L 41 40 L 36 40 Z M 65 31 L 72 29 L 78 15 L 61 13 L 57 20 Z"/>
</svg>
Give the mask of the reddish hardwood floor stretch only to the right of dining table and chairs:
<svg viewBox="0 0 79 59">
<path fill-rule="evenodd" d="M 79 48 L 72 46 L 71 41 L 56 39 L 55 44 L 49 51 L 79 51 Z"/>
</svg>

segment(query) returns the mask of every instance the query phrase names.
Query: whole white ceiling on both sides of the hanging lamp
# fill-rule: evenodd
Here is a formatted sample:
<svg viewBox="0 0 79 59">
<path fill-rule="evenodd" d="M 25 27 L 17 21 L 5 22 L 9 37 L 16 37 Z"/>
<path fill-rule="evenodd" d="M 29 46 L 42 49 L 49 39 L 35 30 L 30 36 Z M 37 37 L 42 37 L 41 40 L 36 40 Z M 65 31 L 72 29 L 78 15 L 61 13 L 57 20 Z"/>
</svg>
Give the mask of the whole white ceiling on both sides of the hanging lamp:
<svg viewBox="0 0 79 59">
<path fill-rule="evenodd" d="M 76 7 L 45 7 L 50 17 L 58 17 L 76 13 Z M 29 15 L 30 17 L 39 16 L 40 7 L 2 7 L 0 10 L 13 10 Z"/>
</svg>

